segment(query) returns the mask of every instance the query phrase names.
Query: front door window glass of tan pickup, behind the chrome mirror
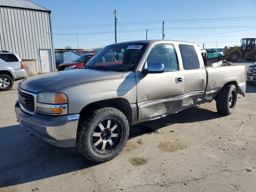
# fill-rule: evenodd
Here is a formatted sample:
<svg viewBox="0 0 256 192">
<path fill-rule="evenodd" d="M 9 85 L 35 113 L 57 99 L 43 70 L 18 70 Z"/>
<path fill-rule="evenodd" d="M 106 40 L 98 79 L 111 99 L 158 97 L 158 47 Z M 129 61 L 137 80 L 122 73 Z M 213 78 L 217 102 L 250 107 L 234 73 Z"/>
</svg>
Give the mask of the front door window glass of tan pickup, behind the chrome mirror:
<svg viewBox="0 0 256 192">
<path fill-rule="evenodd" d="M 179 70 L 176 53 L 172 44 L 155 45 L 150 51 L 147 63 L 161 62 L 164 64 L 164 71 Z"/>
</svg>

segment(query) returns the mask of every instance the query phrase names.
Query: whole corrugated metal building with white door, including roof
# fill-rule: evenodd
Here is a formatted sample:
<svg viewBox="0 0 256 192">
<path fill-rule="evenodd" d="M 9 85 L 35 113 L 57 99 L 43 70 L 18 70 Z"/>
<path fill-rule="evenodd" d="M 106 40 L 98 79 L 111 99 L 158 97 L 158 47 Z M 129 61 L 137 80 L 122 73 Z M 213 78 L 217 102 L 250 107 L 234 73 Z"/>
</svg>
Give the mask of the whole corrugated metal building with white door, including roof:
<svg viewBox="0 0 256 192">
<path fill-rule="evenodd" d="M 36 60 L 36 72 L 55 70 L 50 10 L 29 0 L 0 0 L 0 50 Z"/>
</svg>

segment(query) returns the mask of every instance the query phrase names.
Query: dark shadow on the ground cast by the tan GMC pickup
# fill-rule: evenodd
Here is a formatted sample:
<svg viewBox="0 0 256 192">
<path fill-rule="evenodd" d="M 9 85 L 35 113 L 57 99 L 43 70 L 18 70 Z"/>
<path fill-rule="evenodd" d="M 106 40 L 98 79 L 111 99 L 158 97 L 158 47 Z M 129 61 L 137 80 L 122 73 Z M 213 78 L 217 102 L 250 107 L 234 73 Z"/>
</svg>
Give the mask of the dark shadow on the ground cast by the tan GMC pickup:
<svg viewBox="0 0 256 192">
<path fill-rule="evenodd" d="M 210 110 L 189 108 L 178 114 L 132 126 L 129 139 L 170 124 L 186 124 L 221 117 Z M 76 172 L 97 165 L 86 160 L 75 147 L 53 146 L 20 125 L 0 128 L 0 141 L 0 188 Z"/>
</svg>

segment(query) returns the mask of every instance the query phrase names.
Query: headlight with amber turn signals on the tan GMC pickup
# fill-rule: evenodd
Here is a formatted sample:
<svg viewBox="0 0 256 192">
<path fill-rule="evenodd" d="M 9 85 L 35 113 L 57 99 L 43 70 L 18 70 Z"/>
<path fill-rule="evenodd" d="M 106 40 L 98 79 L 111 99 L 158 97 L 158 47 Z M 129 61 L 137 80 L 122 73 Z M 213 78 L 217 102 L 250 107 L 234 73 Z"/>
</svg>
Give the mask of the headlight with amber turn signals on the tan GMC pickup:
<svg viewBox="0 0 256 192">
<path fill-rule="evenodd" d="M 40 92 L 36 102 L 37 111 L 45 114 L 67 114 L 68 98 L 63 93 Z"/>
</svg>

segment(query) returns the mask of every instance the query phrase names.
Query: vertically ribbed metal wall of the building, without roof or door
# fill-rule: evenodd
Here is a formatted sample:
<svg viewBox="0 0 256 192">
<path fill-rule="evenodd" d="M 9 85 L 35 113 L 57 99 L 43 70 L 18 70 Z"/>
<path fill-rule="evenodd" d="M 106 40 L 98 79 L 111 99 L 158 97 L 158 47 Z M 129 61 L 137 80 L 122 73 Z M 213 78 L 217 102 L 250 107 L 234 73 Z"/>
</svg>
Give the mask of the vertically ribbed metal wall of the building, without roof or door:
<svg viewBox="0 0 256 192">
<path fill-rule="evenodd" d="M 51 50 L 54 69 L 49 12 L 0 7 L 0 50 L 35 59 L 40 73 L 40 49 Z"/>
</svg>

